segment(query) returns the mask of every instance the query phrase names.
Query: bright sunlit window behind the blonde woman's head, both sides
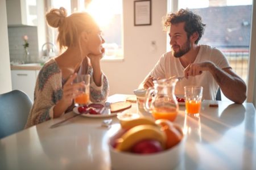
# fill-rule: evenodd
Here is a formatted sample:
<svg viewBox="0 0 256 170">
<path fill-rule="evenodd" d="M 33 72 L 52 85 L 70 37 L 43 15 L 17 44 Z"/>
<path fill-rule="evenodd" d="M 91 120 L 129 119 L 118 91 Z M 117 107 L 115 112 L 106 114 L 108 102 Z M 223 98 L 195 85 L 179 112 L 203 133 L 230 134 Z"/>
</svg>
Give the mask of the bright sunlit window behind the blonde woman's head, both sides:
<svg viewBox="0 0 256 170">
<path fill-rule="evenodd" d="M 123 59 L 122 0 L 51 0 L 53 8 L 64 7 L 68 15 L 86 11 L 96 20 L 105 39 L 103 59 Z M 51 28 L 49 28 L 51 29 Z M 49 37 L 56 42 L 56 31 L 49 31 Z"/>
</svg>

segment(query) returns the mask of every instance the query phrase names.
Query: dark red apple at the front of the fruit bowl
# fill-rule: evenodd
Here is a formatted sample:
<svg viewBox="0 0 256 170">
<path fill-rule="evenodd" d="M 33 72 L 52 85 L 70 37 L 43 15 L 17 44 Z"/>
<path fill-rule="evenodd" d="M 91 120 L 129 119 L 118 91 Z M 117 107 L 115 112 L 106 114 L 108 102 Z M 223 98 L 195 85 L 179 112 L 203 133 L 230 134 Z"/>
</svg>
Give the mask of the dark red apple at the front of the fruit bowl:
<svg viewBox="0 0 256 170">
<path fill-rule="evenodd" d="M 139 141 L 131 148 L 131 152 L 136 154 L 152 154 L 162 150 L 163 147 L 161 146 L 160 142 L 151 139 Z"/>
</svg>

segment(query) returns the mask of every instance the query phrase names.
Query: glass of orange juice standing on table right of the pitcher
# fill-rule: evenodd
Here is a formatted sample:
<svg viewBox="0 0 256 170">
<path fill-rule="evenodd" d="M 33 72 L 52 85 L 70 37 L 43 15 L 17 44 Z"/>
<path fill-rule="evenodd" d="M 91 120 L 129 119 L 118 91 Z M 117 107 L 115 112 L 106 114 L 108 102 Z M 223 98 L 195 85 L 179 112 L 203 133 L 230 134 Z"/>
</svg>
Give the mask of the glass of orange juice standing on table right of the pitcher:
<svg viewBox="0 0 256 170">
<path fill-rule="evenodd" d="M 201 109 L 201 100 L 203 96 L 203 87 L 185 86 L 185 108 L 187 114 L 199 114 Z"/>
</svg>

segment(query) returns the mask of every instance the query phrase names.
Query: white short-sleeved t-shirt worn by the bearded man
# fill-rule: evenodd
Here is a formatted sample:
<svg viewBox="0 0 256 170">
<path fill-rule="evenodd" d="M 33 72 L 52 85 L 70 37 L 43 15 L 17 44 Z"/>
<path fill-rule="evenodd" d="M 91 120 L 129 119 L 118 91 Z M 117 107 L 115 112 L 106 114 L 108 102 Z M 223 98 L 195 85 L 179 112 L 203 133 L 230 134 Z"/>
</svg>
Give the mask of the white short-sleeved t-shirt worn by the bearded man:
<svg viewBox="0 0 256 170">
<path fill-rule="evenodd" d="M 211 61 L 220 69 L 231 68 L 228 60 L 220 50 L 208 45 L 200 45 L 199 53 L 194 63 Z M 183 76 L 184 67 L 179 58 L 172 56 L 172 52 L 163 54 L 150 75 L 156 78 L 170 78 L 170 76 Z M 184 86 L 203 86 L 203 99 L 215 100 L 218 84 L 209 71 L 203 71 L 201 75 L 189 76 L 177 82 L 175 87 L 176 95 L 184 95 Z"/>
</svg>

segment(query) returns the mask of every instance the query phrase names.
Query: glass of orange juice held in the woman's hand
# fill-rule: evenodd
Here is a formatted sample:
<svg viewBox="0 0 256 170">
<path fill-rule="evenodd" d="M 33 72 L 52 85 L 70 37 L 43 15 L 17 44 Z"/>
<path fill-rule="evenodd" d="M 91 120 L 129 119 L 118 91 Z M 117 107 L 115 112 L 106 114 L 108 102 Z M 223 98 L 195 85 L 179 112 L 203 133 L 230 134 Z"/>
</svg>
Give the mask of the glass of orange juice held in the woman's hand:
<svg viewBox="0 0 256 170">
<path fill-rule="evenodd" d="M 75 79 L 75 83 L 80 83 L 84 81 L 84 88 L 80 88 L 81 94 L 76 96 L 74 99 L 75 106 L 85 105 L 89 103 L 90 100 L 90 75 L 89 74 L 81 74 L 77 75 Z"/>
</svg>

